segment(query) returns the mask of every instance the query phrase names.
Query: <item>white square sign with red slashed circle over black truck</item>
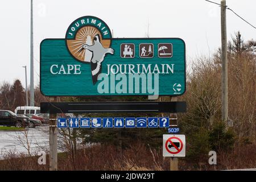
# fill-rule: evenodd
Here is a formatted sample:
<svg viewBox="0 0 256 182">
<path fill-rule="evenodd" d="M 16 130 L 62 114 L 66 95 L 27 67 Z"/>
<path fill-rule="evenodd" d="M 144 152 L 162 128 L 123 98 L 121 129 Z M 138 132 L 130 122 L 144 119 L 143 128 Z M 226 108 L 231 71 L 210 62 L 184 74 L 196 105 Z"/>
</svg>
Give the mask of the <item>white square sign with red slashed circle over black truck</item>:
<svg viewBox="0 0 256 182">
<path fill-rule="evenodd" d="M 184 157 L 185 135 L 163 135 L 163 156 Z"/>
</svg>

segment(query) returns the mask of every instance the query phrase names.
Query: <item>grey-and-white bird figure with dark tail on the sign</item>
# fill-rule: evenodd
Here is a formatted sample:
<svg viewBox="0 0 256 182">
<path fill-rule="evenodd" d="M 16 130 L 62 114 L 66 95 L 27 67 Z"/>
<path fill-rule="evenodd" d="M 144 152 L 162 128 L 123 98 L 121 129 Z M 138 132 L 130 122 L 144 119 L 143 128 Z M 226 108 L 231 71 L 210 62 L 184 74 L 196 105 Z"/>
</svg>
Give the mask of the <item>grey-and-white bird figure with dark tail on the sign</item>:
<svg viewBox="0 0 256 182">
<path fill-rule="evenodd" d="M 80 52 L 83 49 L 88 49 L 92 52 L 92 59 L 90 60 L 90 67 L 92 70 L 92 80 L 93 85 L 98 80 L 98 75 L 101 73 L 101 63 L 104 60 L 106 53 L 111 53 L 113 55 L 114 49 L 112 48 L 104 48 L 100 41 L 100 35 L 96 35 L 93 39 L 94 44 L 89 46 L 88 44 L 83 44 Z"/>
</svg>

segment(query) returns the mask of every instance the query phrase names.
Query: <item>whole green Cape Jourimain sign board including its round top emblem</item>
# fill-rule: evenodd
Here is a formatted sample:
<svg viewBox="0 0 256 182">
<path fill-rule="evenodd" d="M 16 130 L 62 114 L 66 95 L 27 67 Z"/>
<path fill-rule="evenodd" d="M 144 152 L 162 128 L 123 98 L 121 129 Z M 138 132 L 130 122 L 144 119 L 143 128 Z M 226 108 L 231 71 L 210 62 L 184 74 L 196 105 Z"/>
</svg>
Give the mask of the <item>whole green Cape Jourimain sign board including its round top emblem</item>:
<svg viewBox="0 0 256 182">
<path fill-rule="evenodd" d="M 65 39 L 40 44 L 45 96 L 180 96 L 185 92 L 185 43 L 179 38 L 112 38 L 107 24 L 83 16 Z"/>
</svg>

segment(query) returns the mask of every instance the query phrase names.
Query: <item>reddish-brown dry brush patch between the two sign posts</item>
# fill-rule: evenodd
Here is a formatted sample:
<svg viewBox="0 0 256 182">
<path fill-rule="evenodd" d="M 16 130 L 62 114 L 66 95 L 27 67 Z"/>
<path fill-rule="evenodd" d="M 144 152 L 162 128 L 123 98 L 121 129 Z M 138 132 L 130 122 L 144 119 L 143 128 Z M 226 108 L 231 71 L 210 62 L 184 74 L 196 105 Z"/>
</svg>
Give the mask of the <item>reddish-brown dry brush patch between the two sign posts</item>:
<svg viewBox="0 0 256 182">
<path fill-rule="evenodd" d="M 100 146 L 84 148 L 77 151 L 75 163 L 67 158 L 60 158 L 60 170 L 163 170 L 162 165 L 155 162 L 159 154 L 156 150 L 151 154 L 148 147 L 135 144 L 129 148 L 119 150 L 114 146 Z M 161 155 L 162 156 L 162 155 Z M 162 157 L 161 157 L 162 159 Z"/>
</svg>

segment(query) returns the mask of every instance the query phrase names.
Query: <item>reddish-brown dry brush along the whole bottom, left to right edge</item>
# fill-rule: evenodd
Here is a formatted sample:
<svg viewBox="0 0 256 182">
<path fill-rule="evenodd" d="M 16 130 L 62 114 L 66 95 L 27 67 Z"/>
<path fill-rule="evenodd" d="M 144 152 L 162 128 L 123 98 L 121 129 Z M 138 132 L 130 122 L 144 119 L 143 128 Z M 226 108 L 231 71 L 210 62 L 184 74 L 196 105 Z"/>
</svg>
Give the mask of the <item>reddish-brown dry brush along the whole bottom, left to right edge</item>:
<svg viewBox="0 0 256 182">
<path fill-rule="evenodd" d="M 187 159 L 179 160 L 180 170 L 222 170 L 256 168 L 256 145 L 247 144 L 234 148 L 232 151 L 218 151 L 217 165 L 210 166 L 208 158 L 198 162 Z M 94 145 L 78 150 L 73 160 L 72 155 L 59 153 L 58 167 L 60 171 L 72 170 L 116 170 L 116 171 L 163 171 L 168 170 L 170 160 L 162 157 L 162 148 L 152 150 L 144 144 L 136 143 L 129 148 L 119 151 L 115 146 Z M 48 170 L 47 164 L 39 165 L 38 156 L 29 157 L 26 154 L 17 154 L 10 151 L 0 160 L 1 170 Z"/>
</svg>

